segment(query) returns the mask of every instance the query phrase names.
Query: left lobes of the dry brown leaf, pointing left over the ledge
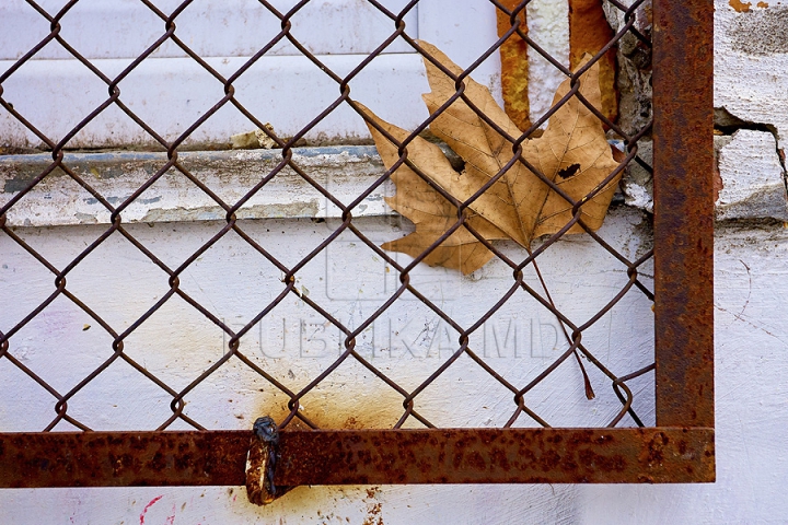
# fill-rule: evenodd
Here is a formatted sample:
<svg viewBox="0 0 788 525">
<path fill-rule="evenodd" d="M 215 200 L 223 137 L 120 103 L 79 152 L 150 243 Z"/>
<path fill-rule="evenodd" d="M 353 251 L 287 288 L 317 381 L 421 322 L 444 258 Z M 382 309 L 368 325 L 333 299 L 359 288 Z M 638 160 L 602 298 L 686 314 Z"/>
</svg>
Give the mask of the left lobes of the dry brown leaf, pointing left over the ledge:
<svg viewBox="0 0 788 525">
<path fill-rule="evenodd" d="M 367 117 L 378 122 L 395 140 L 402 142 L 410 135 L 404 129 L 382 120 L 363 105 L 358 105 Z M 399 147 L 391 142 L 373 126 L 368 124 L 368 127 L 383 164 L 390 170 L 399 160 Z M 441 187 L 451 195 L 456 194 L 456 187 L 461 185 L 462 177 L 451 166 L 440 148 L 416 137 L 407 145 L 407 151 L 408 159 L 421 173 L 429 174 L 430 177 L 440 174 L 440 178 L 445 182 L 445 184 L 441 184 Z M 394 171 L 392 180 L 397 187 L 397 192 L 394 197 L 386 197 L 385 200 L 394 210 L 407 217 L 416 225 L 416 231 L 403 238 L 385 243 L 382 248 L 402 252 L 415 258 L 457 222 L 457 208 L 405 163 Z M 508 238 L 503 232 L 477 214 L 470 214 L 466 223 L 487 240 Z M 443 266 L 459 269 L 463 273 L 471 273 L 483 267 L 491 257 L 493 253 L 471 232 L 461 226 L 424 260 L 430 266 Z"/>
</svg>

